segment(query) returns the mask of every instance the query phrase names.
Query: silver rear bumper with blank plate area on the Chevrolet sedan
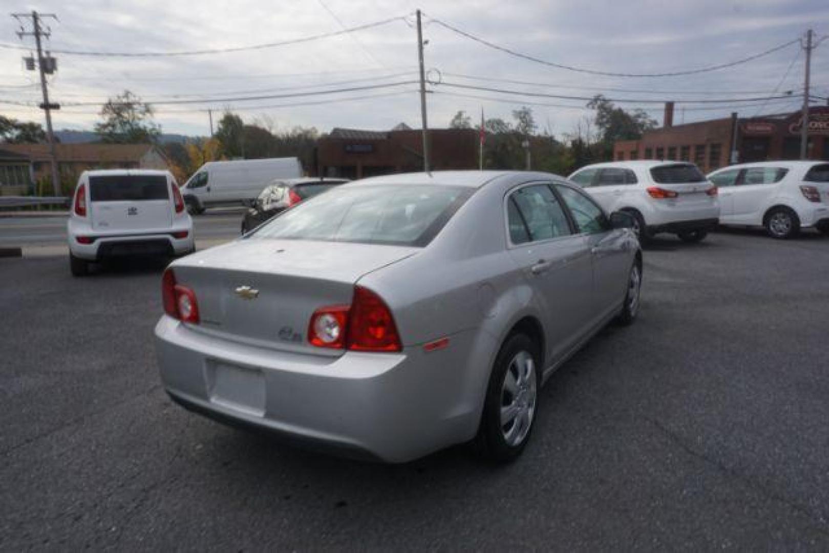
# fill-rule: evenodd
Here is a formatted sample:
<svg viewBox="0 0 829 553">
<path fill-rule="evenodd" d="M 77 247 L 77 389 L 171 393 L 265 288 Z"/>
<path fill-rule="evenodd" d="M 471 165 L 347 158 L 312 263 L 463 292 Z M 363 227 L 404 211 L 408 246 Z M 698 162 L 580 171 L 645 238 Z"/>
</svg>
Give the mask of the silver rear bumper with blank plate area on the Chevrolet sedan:
<svg viewBox="0 0 829 553">
<path fill-rule="evenodd" d="M 229 341 L 164 316 L 155 329 L 167 393 L 212 419 L 348 457 L 401 463 L 472 439 L 463 402 L 467 341 L 423 352 L 282 352 Z"/>
</svg>

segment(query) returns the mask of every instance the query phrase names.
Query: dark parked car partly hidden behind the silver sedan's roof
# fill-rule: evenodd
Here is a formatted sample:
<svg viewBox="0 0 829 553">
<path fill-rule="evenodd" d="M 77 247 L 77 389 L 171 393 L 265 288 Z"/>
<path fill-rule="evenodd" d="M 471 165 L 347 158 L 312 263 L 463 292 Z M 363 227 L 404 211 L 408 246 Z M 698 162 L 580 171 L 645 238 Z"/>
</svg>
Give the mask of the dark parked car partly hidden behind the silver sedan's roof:
<svg viewBox="0 0 829 553">
<path fill-rule="evenodd" d="M 348 182 L 347 178 L 290 178 L 271 182 L 242 220 L 242 234 L 279 215 L 288 207 Z"/>
</svg>

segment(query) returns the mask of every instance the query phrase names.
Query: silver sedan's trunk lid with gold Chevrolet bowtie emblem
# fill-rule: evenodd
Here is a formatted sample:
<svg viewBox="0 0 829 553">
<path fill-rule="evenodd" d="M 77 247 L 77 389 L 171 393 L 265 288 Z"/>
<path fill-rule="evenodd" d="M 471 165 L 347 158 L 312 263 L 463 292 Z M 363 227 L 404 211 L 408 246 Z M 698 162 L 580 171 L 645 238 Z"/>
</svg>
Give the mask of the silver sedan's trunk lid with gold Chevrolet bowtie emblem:
<svg viewBox="0 0 829 553">
<path fill-rule="evenodd" d="M 414 255 L 405 246 L 245 239 L 175 266 L 196 293 L 206 332 L 259 347 L 342 355 L 308 343 L 308 323 L 323 306 L 351 303 L 361 276 Z"/>
</svg>

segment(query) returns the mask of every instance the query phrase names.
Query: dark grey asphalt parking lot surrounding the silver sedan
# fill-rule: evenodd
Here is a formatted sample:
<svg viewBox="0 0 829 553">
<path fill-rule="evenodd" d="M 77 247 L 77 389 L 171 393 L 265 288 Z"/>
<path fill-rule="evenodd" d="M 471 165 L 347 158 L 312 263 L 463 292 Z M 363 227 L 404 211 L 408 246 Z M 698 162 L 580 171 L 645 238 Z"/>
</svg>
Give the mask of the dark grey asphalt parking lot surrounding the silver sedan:
<svg viewBox="0 0 829 553">
<path fill-rule="evenodd" d="M 163 264 L 0 260 L 0 549 L 829 548 L 829 239 L 645 252 L 642 313 L 551 379 L 507 467 L 289 449 L 172 405 Z"/>
</svg>

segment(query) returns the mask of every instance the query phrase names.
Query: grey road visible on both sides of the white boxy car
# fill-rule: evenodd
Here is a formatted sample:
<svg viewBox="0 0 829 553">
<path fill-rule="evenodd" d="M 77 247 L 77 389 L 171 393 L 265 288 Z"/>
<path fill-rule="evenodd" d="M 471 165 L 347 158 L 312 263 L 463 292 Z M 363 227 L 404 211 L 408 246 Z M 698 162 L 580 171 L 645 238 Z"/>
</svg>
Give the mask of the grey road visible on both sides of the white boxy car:
<svg viewBox="0 0 829 553">
<path fill-rule="evenodd" d="M 242 208 L 206 211 L 193 217 L 196 240 L 235 238 L 239 235 Z M 0 247 L 54 247 L 66 245 L 65 216 L 0 217 Z"/>
</svg>

